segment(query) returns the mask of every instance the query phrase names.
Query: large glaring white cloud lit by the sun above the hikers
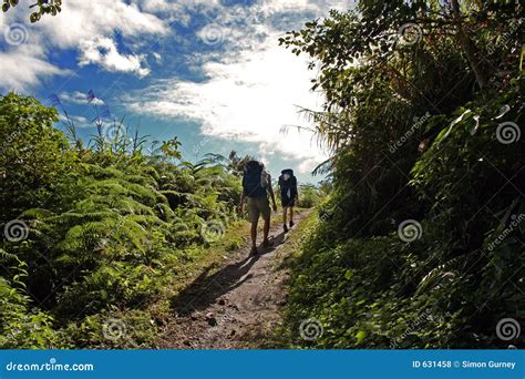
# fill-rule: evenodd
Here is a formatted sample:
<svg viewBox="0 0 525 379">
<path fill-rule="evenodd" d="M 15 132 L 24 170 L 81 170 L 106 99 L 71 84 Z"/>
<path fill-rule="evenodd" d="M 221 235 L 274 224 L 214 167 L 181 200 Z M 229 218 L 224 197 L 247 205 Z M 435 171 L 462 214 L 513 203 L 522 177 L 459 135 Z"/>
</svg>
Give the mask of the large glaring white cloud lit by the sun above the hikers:
<svg viewBox="0 0 525 379">
<path fill-rule="evenodd" d="M 159 81 L 126 102 L 137 113 L 199 120 L 205 135 L 258 143 L 262 155 L 299 158 L 301 172 L 326 158 L 311 134 L 280 132 L 282 125 L 305 124 L 295 104 L 316 109 L 318 99 L 306 62 L 277 47 L 275 35 L 256 52 L 205 63 L 204 71 L 205 82 Z"/>
</svg>

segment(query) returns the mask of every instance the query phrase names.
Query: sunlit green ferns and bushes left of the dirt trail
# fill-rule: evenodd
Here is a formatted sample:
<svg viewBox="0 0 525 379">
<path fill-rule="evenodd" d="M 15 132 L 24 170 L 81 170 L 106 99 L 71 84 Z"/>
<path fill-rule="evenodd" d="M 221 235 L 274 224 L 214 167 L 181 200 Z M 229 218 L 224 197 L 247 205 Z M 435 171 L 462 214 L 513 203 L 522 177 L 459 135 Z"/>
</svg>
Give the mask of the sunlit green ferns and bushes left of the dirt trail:
<svg viewBox="0 0 525 379">
<path fill-rule="evenodd" d="M 223 236 L 239 225 L 243 160 L 182 162 L 176 139 L 146 155 L 102 116 L 87 148 L 56 121 L 32 98 L 0 98 L 0 347 L 151 346 L 184 272 L 239 245 Z"/>
</svg>

